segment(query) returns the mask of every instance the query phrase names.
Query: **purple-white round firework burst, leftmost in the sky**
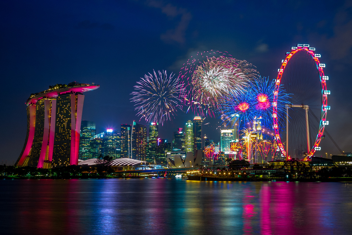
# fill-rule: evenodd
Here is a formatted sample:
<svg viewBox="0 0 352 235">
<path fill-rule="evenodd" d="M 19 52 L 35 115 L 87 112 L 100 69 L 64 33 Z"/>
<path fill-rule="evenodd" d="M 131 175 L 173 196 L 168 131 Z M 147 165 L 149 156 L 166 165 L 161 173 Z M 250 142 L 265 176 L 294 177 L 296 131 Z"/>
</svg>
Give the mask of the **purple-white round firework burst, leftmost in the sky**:
<svg viewBox="0 0 352 235">
<path fill-rule="evenodd" d="M 138 85 L 134 86 L 131 99 L 140 119 L 147 122 L 160 122 L 171 120 L 177 110 L 181 110 L 180 96 L 184 96 L 184 88 L 179 78 L 174 75 L 168 77 L 166 71 L 146 74 Z"/>
</svg>

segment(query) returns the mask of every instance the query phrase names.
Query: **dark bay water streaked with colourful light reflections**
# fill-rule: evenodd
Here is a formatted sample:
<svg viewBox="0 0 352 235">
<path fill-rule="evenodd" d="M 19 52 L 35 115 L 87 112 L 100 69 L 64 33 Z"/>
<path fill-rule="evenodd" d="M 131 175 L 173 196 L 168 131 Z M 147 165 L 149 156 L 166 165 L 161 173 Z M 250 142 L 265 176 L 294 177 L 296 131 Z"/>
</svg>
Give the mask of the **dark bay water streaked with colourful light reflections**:
<svg viewBox="0 0 352 235">
<path fill-rule="evenodd" d="M 352 184 L 1 180 L 1 234 L 351 234 Z"/>
</svg>

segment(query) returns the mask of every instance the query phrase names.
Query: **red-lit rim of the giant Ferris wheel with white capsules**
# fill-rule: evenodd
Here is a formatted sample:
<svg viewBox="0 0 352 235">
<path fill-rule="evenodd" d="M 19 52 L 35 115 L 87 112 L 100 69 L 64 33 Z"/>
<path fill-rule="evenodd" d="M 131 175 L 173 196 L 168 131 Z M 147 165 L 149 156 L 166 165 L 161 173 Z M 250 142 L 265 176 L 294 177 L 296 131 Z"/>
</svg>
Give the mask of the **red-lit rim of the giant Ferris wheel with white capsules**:
<svg viewBox="0 0 352 235">
<path fill-rule="evenodd" d="M 278 90 L 280 88 L 280 82 L 281 82 L 281 78 L 282 75 L 284 73 L 284 70 L 286 68 L 287 63 L 290 61 L 290 59 L 292 58 L 293 55 L 296 54 L 296 52 L 298 51 L 305 51 L 308 53 L 308 55 L 312 56 L 313 61 L 315 62 L 316 68 L 318 69 L 319 72 L 319 78 L 320 78 L 320 84 L 321 84 L 321 116 L 320 116 L 320 123 L 319 123 L 319 129 L 318 129 L 318 134 L 316 136 L 315 142 L 312 145 L 311 149 L 308 149 L 308 154 L 307 156 L 303 159 L 303 160 L 308 160 L 309 157 L 312 157 L 315 153 L 315 151 L 320 150 L 319 144 L 320 141 L 323 137 L 323 133 L 324 133 L 324 128 L 325 125 L 328 125 L 328 121 L 326 120 L 326 114 L 327 114 L 327 110 L 330 109 L 330 107 L 327 105 L 327 96 L 330 93 L 327 88 L 326 88 L 326 81 L 328 80 L 328 76 L 324 75 L 324 70 L 323 68 L 325 68 L 325 64 L 320 63 L 319 58 L 321 57 L 320 54 L 315 53 L 315 48 L 314 47 L 310 47 L 308 44 L 297 44 L 297 46 L 291 47 L 291 52 L 287 52 L 286 53 L 286 57 L 285 59 L 283 59 L 281 61 L 281 66 L 280 69 L 278 69 L 277 72 L 277 77 L 276 77 L 276 84 L 275 84 L 275 90 L 274 90 L 274 100 L 273 100 L 273 112 L 272 112 L 272 117 L 273 117 L 273 128 L 274 128 L 274 132 L 275 132 L 275 139 L 277 142 L 277 146 L 280 150 L 280 152 L 282 153 L 282 155 L 286 158 L 286 160 L 288 160 L 288 156 L 283 147 L 283 143 L 281 141 L 280 138 L 280 134 L 279 134 L 279 127 L 278 127 L 278 114 L 277 114 L 277 98 L 278 98 Z"/>
</svg>

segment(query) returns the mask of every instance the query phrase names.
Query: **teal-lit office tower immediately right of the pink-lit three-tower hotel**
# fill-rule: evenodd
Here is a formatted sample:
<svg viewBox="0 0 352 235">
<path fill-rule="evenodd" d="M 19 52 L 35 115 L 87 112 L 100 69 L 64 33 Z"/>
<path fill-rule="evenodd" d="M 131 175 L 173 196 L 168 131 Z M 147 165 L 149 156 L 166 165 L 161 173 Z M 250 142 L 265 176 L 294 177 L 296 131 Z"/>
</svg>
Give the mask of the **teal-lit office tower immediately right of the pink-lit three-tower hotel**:
<svg viewBox="0 0 352 235">
<path fill-rule="evenodd" d="M 80 148 L 78 151 L 78 158 L 87 160 L 92 158 L 89 151 L 89 140 L 96 134 L 95 122 L 82 120 L 80 133 Z"/>
</svg>

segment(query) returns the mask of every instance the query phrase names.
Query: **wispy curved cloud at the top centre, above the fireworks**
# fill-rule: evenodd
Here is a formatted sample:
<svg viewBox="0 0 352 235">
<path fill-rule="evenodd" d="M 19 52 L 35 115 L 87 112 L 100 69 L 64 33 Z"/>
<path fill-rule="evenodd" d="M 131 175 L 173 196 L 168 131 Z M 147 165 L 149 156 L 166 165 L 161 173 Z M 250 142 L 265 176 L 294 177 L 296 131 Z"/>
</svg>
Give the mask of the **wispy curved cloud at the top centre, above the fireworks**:
<svg viewBox="0 0 352 235">
<path fill-rule="evenodd" d="M 170 18 L 175 18 L 180 16 L 181 20 L 174 29 L 167 30 L 165 33 L 160 35 L 160 39 L 166 43 L 177 42 L 183 44 L 186 39 L 186 30 L 188 28 L 189 22 L 192 19 L 192 14 L 185 8 L 180 8 L 173 6 L 171 4 L 164 4 L 162 1 L 150 0 L 148 5 L 151 7 L 161 9 L 161 12 Z"/>
</svg>

